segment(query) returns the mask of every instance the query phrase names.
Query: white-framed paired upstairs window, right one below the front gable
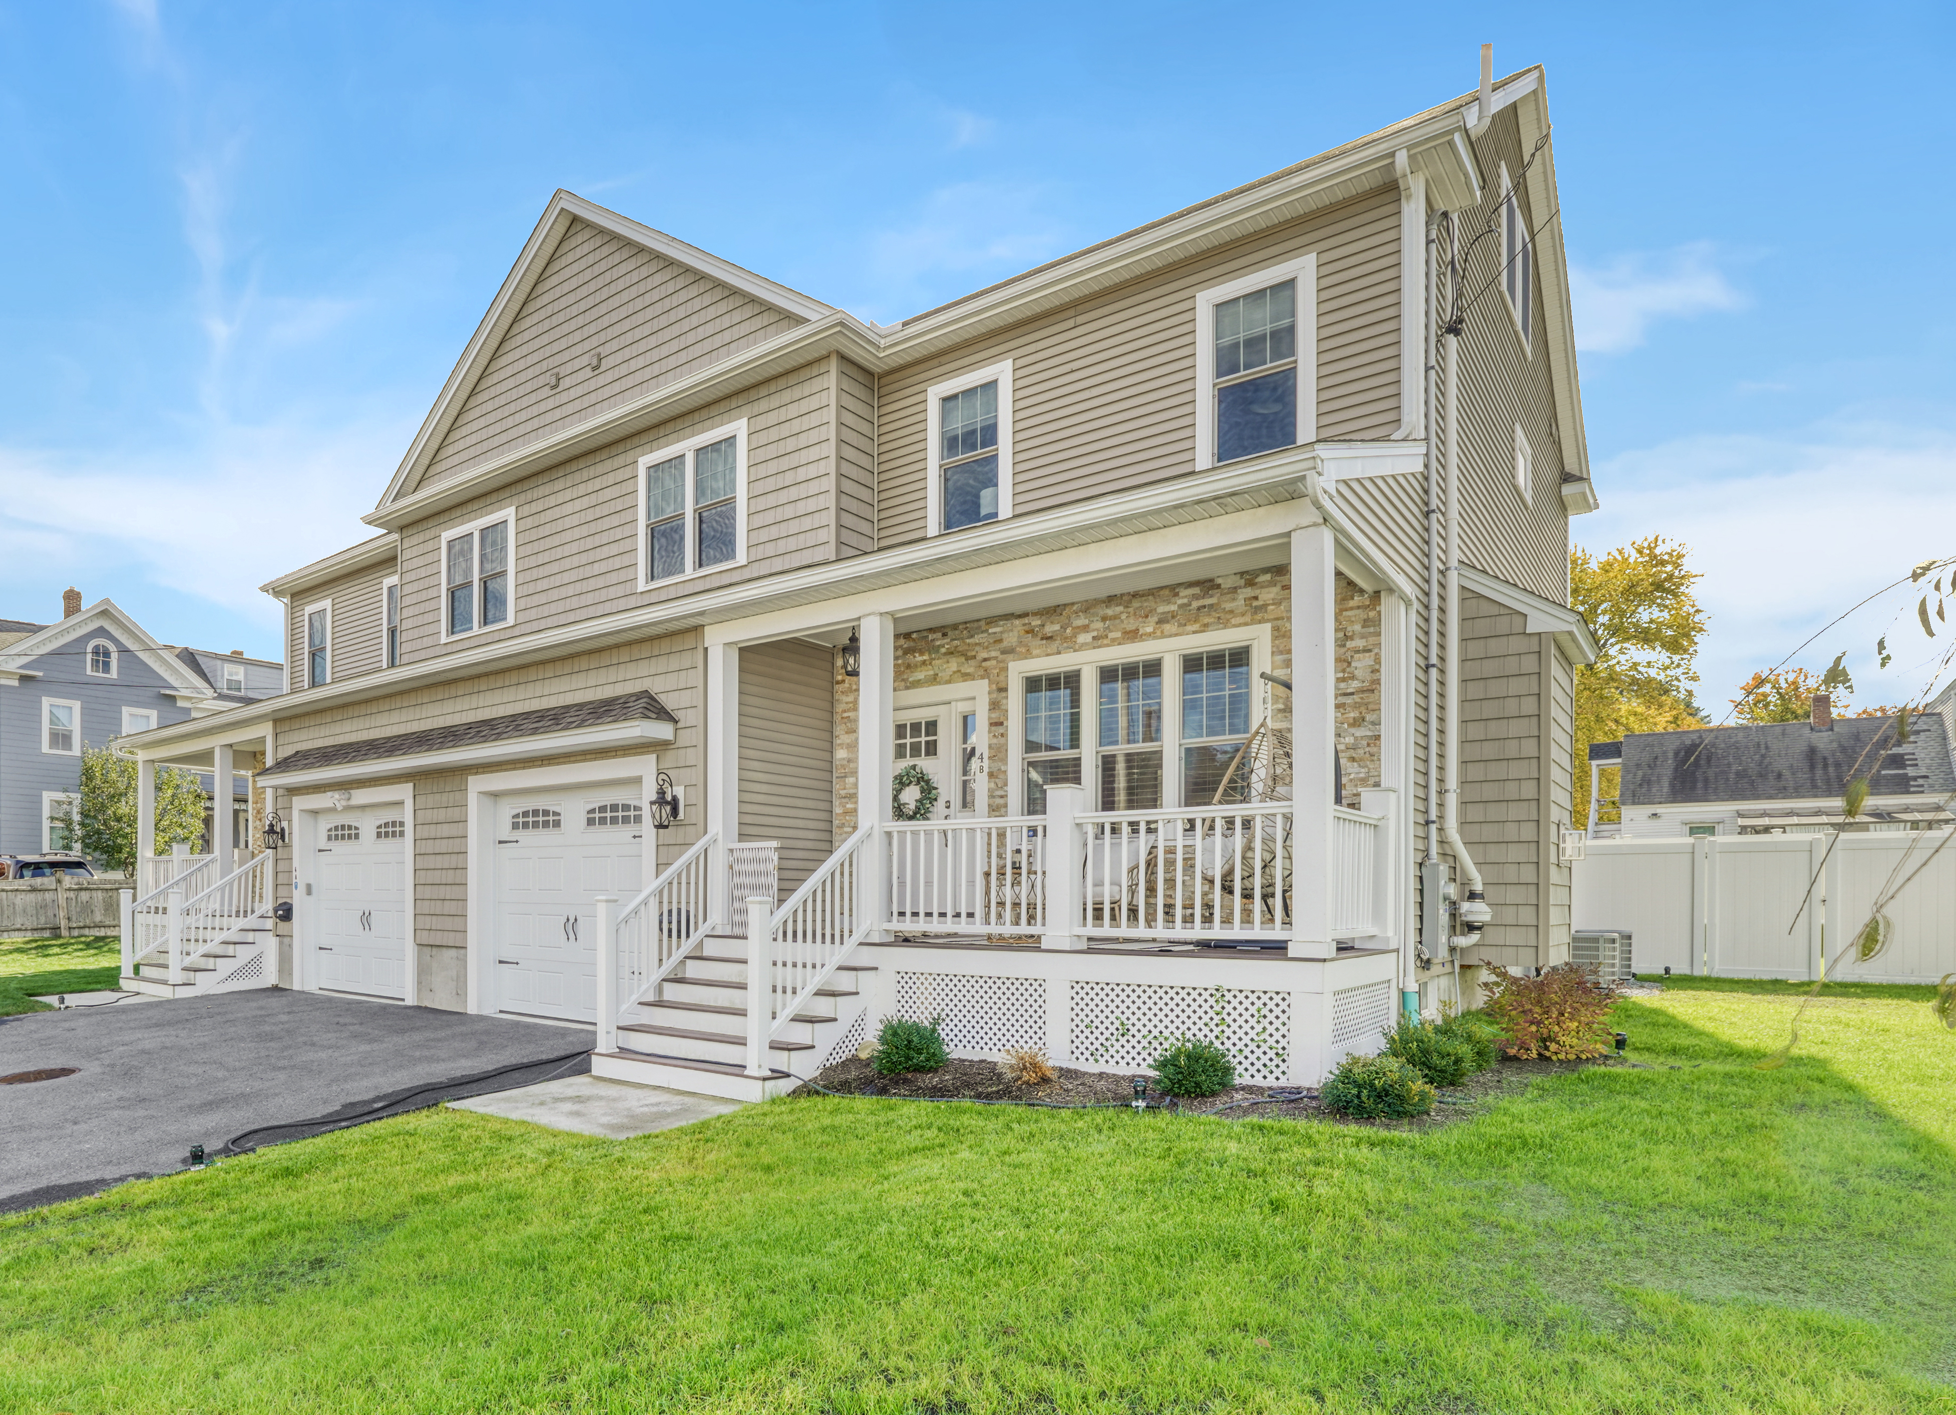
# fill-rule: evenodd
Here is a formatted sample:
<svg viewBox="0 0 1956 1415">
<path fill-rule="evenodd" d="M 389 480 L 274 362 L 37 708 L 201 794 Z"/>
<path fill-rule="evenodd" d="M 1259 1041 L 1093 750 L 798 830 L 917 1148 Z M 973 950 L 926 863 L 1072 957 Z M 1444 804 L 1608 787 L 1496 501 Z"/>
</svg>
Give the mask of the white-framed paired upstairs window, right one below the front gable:
<svg viewBox="0 0 1956 1415">
<path fill-rule="evenodd" d="M 747 563 L 747 420 L 638 459 L 638 582 Z"/>
</svg>

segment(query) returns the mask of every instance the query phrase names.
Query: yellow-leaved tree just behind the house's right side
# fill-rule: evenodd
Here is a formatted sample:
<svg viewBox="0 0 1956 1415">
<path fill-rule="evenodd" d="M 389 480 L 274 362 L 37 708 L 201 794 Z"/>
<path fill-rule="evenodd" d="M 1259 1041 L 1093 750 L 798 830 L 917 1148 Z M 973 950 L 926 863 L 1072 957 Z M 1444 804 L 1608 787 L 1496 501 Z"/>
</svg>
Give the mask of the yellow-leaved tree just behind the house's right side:
<svg viewBox="0 0 1956 1415">
<path fill-rule="evenodd" d="M 1577 668 L 1575 813 L 1588 819 L 1590 743 L 1623 733 L 1702 727 L 1692 702 L 1706 612 L 1698 571 L 1678 541 L 1647 536 L 1606 555 L 1569 551 L 1569 604 L 1596 635 L 1596 663 Z M 1606 782 L 1604 790 L 1610 790 Z"/>
</svg>

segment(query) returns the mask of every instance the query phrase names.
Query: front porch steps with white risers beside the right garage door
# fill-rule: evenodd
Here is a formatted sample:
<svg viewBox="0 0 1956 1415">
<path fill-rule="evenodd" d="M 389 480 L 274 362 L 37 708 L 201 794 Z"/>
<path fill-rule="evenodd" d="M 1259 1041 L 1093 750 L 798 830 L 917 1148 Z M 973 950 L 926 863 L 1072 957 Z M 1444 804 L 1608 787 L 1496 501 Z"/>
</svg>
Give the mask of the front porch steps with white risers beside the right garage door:
<svg viewBox="0 0 1956 1415">
<path fill-rule="evenodd" d="M 814 1075 L 868 1005 L 867 964 L 841 964 L 767 1048 L 767 1077 L 747 1075 L 747 938 L 708 934 L 698 948 L 618 1020 L 618 1046 L 591 1057 L 593 1075 L 765 1100 Z M 780 991 L 780 983 L 775 985 Z M 802 991 L 802 989 L 796 989 Z"/>
</svg>

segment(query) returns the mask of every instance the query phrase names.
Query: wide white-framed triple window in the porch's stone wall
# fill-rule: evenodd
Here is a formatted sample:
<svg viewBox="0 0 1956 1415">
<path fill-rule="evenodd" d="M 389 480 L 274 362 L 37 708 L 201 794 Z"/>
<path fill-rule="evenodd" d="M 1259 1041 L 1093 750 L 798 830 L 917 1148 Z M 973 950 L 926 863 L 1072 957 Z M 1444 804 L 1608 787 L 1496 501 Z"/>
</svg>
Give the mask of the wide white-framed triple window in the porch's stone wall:
<svg viewBox="0 0 1956 1415">
<path fill-rule="evenodd" d="M 1013 665 L 1019 801 L 1045 815 L 1054 786 L 1088 809 L 1240 801 L 1230 776 L 1258 713 L 1269 629 L 1252 627 Z"/>
</svg>

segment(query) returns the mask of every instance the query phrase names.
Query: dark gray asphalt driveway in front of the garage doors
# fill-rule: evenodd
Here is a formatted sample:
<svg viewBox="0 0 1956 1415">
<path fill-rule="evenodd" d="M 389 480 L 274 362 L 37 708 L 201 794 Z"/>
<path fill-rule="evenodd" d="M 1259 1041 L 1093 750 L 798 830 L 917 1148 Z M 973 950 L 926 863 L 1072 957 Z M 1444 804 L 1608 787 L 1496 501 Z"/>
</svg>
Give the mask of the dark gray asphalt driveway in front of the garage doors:
<svg viewBox="0 0 1956 1415">
<path fill-rule="evenodd" d="M 0 1212 L 178 1171 L 192 1145 L 250 1149 L 313 1134 L 293 1122 L 575 1075 L 589 1048 L 581 1028 L 274 987 L 12 1016 L 0 1077 L 74 1075 L 0 1085 Z"/>
</svg>

